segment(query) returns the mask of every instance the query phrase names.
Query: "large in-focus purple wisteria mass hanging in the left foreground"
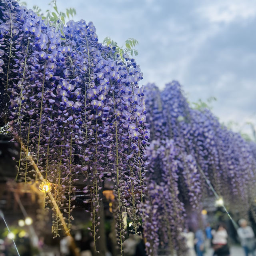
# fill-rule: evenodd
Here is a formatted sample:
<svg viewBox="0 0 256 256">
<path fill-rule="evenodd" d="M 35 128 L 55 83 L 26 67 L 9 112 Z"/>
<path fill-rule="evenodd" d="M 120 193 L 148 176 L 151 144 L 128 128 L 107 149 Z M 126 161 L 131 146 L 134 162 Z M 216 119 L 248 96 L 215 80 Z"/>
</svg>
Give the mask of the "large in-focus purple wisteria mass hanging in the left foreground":
<svg viewBox="0 0 256 256">
<path fill-rule="evenodd" d="M 92 22 L 70 21 L 60 32 L 15 1 L 0 4 L 1 98 L 10 97 L 9 131 L 27 146 L 19 162 L 24 182 L 31 178 L 31 154 L 45 182 L 54 184 L 70 228 L 74 182 L 84 174 L 96 240 L 102 180 L 111 179 L 122 253 L 122 211 L 127 210 L 137 232 L 137 204 L 144 191 L 149 130 L 143 88 L 138 87 L 140 68 L 128 55 L 119 58 L 100 44 Z M 60 220 L 53 210 L 58 236 Z"/>
</svg>

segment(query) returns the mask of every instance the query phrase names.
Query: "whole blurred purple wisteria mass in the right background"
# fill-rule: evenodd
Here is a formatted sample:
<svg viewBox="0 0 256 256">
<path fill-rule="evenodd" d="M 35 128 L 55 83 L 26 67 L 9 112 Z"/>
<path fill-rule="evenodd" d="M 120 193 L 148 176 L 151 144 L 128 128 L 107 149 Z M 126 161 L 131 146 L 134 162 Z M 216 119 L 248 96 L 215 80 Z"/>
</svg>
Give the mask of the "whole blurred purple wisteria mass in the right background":
<svg viewBox="0 0 256 256">
<path fill-rule="evenodd" d="M 144 94 L 151 132 L 144 180 L 146 246 L 149 255 L 157 255 L 161 246 L 182 253 L 180 232 L 189 222 L 185 209 L 190 204 L 200 216 L 200 198 L 210 193 L 207 182 L 224 200 L 248 209 L 255 144 L 222 126 L 210 110 L 190 108 L 176 81 L 162 92 L 148 84 Z"/>
</svg>

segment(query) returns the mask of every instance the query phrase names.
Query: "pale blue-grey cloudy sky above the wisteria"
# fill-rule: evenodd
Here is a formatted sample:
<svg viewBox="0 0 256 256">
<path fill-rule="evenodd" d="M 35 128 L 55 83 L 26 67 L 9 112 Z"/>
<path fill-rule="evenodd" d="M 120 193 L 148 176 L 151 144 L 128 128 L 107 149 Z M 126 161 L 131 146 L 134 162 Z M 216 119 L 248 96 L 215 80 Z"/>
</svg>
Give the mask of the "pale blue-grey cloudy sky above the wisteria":
<svg viewBox="0 0 256 256">
<path fill-rule="evenodd" d="M 50 0 L 49 0 L 50 1 Z M 35 1 L 26 0 L 28 8 Z M 36 1 L 42 10 L 48 0 Z M 135 38 L 141 84 L 178 80 L 190 102 L 214 96 L 222 122 L 256 124 L 256 4 L 251 0 L 57 0 L 92 21 L 99 41 Z M 244 131 L 248 127 L 244 126 Z"/>
</svg>

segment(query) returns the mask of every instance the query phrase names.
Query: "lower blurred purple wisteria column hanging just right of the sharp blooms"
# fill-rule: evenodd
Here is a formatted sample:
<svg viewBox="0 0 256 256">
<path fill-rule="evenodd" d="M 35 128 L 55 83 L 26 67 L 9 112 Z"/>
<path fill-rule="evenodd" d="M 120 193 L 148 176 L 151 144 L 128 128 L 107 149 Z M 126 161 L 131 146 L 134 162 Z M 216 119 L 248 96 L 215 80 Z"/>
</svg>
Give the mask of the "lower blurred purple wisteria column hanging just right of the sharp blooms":
<svg viewBox="0 0 256 256">
<path fill-rule="evenodd" d="M 185 249 L 181 232 L 185 209 L 180 200 L 181 152 L 172 139 L 153 140 L 146 150 L 146 198 L 143 204 L 143 228 L 148 255 L 158 255 L 166 246 L 182 252 Z M 190 156 L 186 156 L 190 158 Z M 189 160 L 188 160 L 189 161 Z M 192 179 L 188 182 L 192 182 Z"/>
</svg>

